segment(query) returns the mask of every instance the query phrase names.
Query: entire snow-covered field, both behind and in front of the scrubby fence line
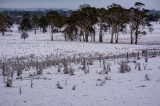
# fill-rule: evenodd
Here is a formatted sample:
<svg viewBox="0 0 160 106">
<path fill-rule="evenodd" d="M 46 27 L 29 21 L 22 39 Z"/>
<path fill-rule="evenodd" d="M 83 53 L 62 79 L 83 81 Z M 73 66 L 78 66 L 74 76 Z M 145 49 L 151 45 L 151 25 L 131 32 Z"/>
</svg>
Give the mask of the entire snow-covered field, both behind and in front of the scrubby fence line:
<svg viewBox="0 0 160 106">
<path fill-rule="evenodd" d="M 109 44 L 109 34 L 104 34 L 104 43 L 64 41 L 61 33 L 55 34 L 52 42 L 49 32 L 38 32 L 37 35 L 28 32 L 30 37 L 24 41 L 20 39 L 15 25 L 13 32 L 0 36 L 0 60 L 31 54 L 38 58 L 51 54 L 63 58 L 160 49 L 160 25 L 153 24 L 154 31 L 142 36 L 138 45 L 128 44 L 130 39 L 126 34 L 120 35 L 121 44 Z M 94 60 L 93 65 L 87 65 L 87 74 L 82 70 L 82 63 L 70 63 L 74 69 L 72 76 L 63 73 L 64 67 L 58 72 L 59 66 L 55 65 L 34 77 L 33 88 L 29 75 L 35 73 L 35 69 L 23 71 L 23 80 L 16 79 L 15 73 L 11 88 L 5 87 L 0 69 L 0 106 L 160 106 L 160 57 L 150 57 L 148 62 L 144 57 L 140 60 L 129 59 L 136 62 L 128 63 L 131 71 L 127 73 L 119 73 L 122 60 L 126 61 L 121 58 L 105 60 L 105 64 L 111 68 L 108 74 L 102 73 L 104 65 L 103 62 L 100 65 L 98 60 Z M 140 64 L 141 71 L 135 69 L 136 63 Z M 63 89 L 57 88 L 58 82 Z"/>
</svg>

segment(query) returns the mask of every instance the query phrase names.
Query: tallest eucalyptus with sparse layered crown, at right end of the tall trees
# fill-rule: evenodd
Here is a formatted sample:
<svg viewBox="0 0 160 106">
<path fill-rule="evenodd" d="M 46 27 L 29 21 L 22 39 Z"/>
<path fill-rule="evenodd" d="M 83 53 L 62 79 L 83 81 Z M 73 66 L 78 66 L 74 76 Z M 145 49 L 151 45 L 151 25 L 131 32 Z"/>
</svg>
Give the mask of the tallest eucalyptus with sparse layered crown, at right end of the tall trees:
<svg viewBox="0 0 160 106">
<path fill-rule="evenodd" d="M 143 7 L 145 4 L 141 2 L 136 2 L 134 7 L 130 8 L 129 11 L 129 25 L 131 32 L 131 44 L 138 43 L 139 35 L 144 35 L 146 32 L 144 31 L 144 27 L 151 27 L 149 23 L 149 15 L 148 10 Z"/>
</svg>

